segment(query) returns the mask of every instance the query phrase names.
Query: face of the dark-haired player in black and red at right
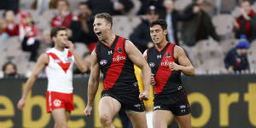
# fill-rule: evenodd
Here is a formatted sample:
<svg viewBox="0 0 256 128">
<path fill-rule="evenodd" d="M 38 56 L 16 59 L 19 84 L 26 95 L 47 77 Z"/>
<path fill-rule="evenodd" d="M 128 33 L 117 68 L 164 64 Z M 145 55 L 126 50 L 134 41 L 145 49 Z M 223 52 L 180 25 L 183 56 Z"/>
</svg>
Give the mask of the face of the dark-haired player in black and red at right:
<svg viewBox="0 0 256 128">
<path fill-rule="evenodd" d="M 160 44 L 166 39 L 166 30 L 164 31 L 160 25 L 150 27 L 150 37 L 154 44 Z"/>
</svg>

